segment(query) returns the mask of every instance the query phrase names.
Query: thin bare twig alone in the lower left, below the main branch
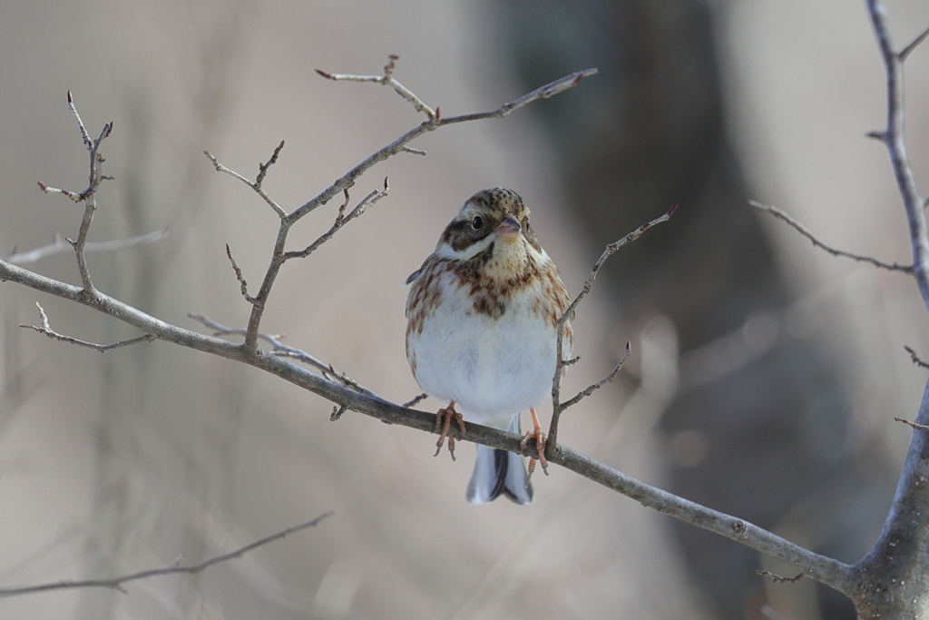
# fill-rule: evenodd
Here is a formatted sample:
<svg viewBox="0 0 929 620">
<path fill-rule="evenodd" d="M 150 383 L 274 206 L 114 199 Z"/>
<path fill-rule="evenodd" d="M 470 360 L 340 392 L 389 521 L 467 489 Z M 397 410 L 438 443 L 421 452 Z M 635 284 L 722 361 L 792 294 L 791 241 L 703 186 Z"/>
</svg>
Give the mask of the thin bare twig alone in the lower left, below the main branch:
<svg viewBox="0 0 929 620">
<path fill-rule="evenodd" d="M 148 579 L 150 577 L 164 576 L 168 574 L 198 574 L 206 569 L 210 568 L 215 564 L 219 564 L 224 561 L 237 560 L 242 558 L 243 555 L 249 551 L 254 551 L 258 547 L 264 547 L 268 543 L 272 543 L 276 540 L 281 540 L 285 536 L 290 534 L 295 534 L 301 532 L 311 527 L 316 527 L 321 523 L 321 521 L 332 517 L 335 514 L 334 510 L 329 512 L 324 512 L 319 517 L 300 523 L 299 525 L 294 525 L 286 529 L 281 530 L 275 534 L 265 536 L 264 538 L 259 538 L 253 543 L 249 543 L 244 547 L 235 549 L 234 551 L 229 551 L 229 553 L 224 553 L 223 555 L 216 556 L 215 558 L 210 558 L 209 560 L 202 561 L 199 564 L 190 564 L 190 565 L 176 565 L 176 566 L 165 566 L 164 568 L 152 568 L 147 571 L 140 571 L 138 573 L 124 574 L 120 577 L 113 577 L 111 579 L 84 579 L 84 580 L 74 580 L 74 581 L 54 581 L 47 584 L 40 584 L 38 586 L 25 586 L 25 587 L 3 587 L 0 588 L 0 598 L 11 597 L 20 594 L 34 594 L 36 592 L 47 592 L 49 590 L 63 590 L 63 589 L 73 589 L 77 587 L 106 587 L 109 589 L 117 590 L 122 593 L 126 593 L 124 585 L 131 581 L 138 581 L 139 579 Z"/>
</svg>

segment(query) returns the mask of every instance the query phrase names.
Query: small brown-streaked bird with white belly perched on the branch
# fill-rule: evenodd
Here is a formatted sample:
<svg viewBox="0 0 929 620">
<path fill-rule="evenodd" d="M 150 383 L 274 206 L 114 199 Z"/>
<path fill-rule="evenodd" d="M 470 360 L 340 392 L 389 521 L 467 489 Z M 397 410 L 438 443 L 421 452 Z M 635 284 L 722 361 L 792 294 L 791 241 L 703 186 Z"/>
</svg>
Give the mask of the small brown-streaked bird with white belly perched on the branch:
<svg viewBox="0 0 929 620">
<path fill-rule="evenodd" d="M 535 427 L 527 439 L 543 445 L 535 407 L 551 398 L 556 323 L 569 297 L 529 218 L 517 192 L 478 191 L 406 281 L 407 362 L 420 388 L 446 404 L 436 419 L 437 429 L 444 420 L 439 450 L 452 419 L 463 432 L 465 419 L 519 433 L 525 409 Z M 565 323 L 562 359 L 572 345 Z M 451 438 L 449 450 L 454 458 Z M 484 504 L 499 495 L 528 504 L 529 475 L 520 455 L 478 444 L 467 500 Z"/>
</svg>

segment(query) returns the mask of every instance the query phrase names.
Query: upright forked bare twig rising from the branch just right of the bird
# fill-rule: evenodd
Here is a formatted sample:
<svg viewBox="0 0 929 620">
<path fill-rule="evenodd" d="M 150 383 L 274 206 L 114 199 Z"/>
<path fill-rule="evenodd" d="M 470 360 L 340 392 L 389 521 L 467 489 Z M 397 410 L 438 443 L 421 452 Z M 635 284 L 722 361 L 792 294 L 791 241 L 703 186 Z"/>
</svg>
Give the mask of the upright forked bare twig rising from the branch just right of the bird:
<svg viewBox="0 0 929 620">
<path fill-rule="evenodd" d="M 586 395 L 583 393 L 583 390 L 578 396 L 575 396 L 569 401 L 569 404 L 561 402 L 561 377 L 564 375 L 564 369 L 569 364 L 575 363 L 577 360 L 565 360 L 564 359 L 564 338 L 565 338 L 565 323 L 567 323 L 573 316 L 574 310 L 577 309 L 578 304 L 581 303 L 581 300 L 590 293 L 591 289 L 594 287 L 594 281 L 596 280 L 596 274 L 599 273 L 600 268 L 603 267 L 603 264 L 607 262 L 607 258 L 616 254 L 623 245 L 631 244 L 636 239 L 642 236 L 645 231 L 648 231 L 652 226 L 656 224 L 661 224 L 661 222 L 666 222 L 674 216 L 674 211 L 677 210 L 677 205 L 674 204 L 668 211 L 662 215 L 660 218 L 655 218 L 648 222 L 648 224 L 643 224 L 642 226 L 635 229 L 635 231 L 630 232 L 626 236 L 622 237 L 619 241 L 614 241 L 611 244 L 608 244 L 606 249 L 604 249 L 603 254 L 596 259 L 594 267 L 590 270 L 590 275 L 587 276 L 587 280 L 584 281 L 583 288 L 581 292 L 578 293 L 577 297 L 571 301 L 568 306 L 568 310 L 565 310 L 565 313 L 561 315 L 561 318 L 558 319 L 558 328 L 557 328 L 557 337 L 556 337 L 556 368 L 555 376 L 552 378 L 552 422 L 548 428 L 548 443 L 547 446 L 549 449 L 555 449 L 557 446 L 558 439 L 558 421 L 561 417 L 562 412 L 567 409 L 569 406 L 577 404 L 580 402 Z M 617 364 L 617 368 L 613 369 L 613 372 L 610 373 L 604 381 L 599 385 L 595 384 L 596 387 L 588 388 L 590 393 L 593 393 L 595 389 L 599 388 L 601 385 L 611 381 L 613 377 L 619 373 L 619 369 L 622 368 L 622 363 L 625 362 L 626 357 L 629 355 L 628 345 L 626 354 L 622 357 L 622 360 Z M 587 394 L 589 395 L 589 394 Z"/>
</svg>

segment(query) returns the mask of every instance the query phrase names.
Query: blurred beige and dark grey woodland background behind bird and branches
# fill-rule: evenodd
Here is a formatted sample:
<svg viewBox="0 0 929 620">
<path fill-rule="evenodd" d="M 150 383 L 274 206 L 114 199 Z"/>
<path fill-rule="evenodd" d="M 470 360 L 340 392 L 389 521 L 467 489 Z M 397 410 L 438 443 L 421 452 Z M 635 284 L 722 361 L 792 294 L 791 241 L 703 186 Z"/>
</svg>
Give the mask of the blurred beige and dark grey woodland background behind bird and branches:
<svg viewBox="0 0 929 620">
<path fill-rule="evenodd" d="M 929 6 L 889 2 L 897 46 Z M 863 3 L 482 0 L 0 5 L 0 252 L 75 235 L 87 157 L 66 92 L 114 180 L 92 240 L 168 229 L 94 254 L 103 292 L 191 329 L 248 307 L 277 218 L 208 149 L 293 209 L 421 122 L 392 91 L 314 69 L 397 76 L 443 115 L 497 107 L 586 67 L 600 73 L 503 120 L 444 128 L 361 178 L 390 195 L 281 273 L 263 329 L 387 399 L 418 392 L 400 284 L 474 191 L 517 190 L 576 293 L 603 245 L 672 204 L 611 258 L 575 329 L 567 390 L 617 382 L 563 418 L 587 455 L 841 561 L 880 531 L 929 356 L 901 274 L 825 243 L 909 261 L 883 146 L 883 68 Z M 908 142 L 929 175 L 929 49 L 907 64 Z M 335 204 L 291 235 L 303 247 Z M 70 253 L 26 265 L 78 283 Z M 34 302 L 59 332 L 137 336 L 2 284 L 0 584 L 196 563 L 328 510 L 316 529 L 195 576 L 0 600 L 5 618 L 853 618 L 838 595 L 755 574 L 795 571 L 553 468 L 530 507 L 464 502 L 472 449 L 347 414 L 270 376 L 165 343 L 99 354 L 20 329 Z M 567 393 L 567 392 L 566 392 Z M 430 409 L 435 403 L 424 402 Z"/>
</svg>

